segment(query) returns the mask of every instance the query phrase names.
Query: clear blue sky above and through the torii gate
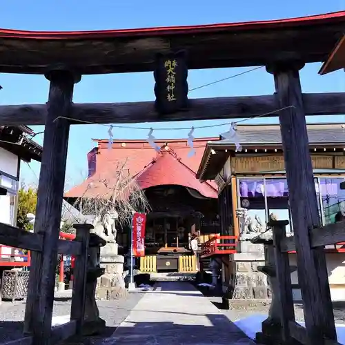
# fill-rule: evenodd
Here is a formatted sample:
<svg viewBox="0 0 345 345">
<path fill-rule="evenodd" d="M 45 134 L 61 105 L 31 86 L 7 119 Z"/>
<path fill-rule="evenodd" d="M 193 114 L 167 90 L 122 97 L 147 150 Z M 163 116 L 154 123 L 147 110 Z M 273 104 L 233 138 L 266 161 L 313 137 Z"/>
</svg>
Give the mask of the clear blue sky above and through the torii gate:
<svg viewBox="0 0 345 345">
<path fill-rule="evenodd" d="M 204 23 L 226 23 L 266 19 L 282 19 L 310 14 L 335 12 L 345 9 L 345 0 L 290 0 L 290 1 L 115 1 L 115 0 L 11 0 L 2 1 L 0 26 L 21 30 L 106 30 L 116 28 L 145 28 L 153 26 L 178 26 Z M 319 63 L 307 65 L 301 71 L 304 92 L 345 92 L 344 72 L 317 75 Z M 222 79 L 246 68 L 191 70 L 188 75 L 190 88 Z M 0 104 L 44 103 L 48 99 L 48 81 L 35 75 L 0 75 Z M 99 75 L 83 77 L 75 86 L 73 101 L 118 102 L 153 100 L 152 73 Z M 236 95 L 266 95 L 273 93 L 273 77 L 264 69 L 241 77 L 201 88 L 190 93 L 191 98 L 226 97 Z M 273 122 L 257 119 L 250 122 Z M 344 121 L 344 117 L 314 117 L 308 121 Z M 210 121 L 203 121 L 204 124 Z M 215 121 L 212 121 L 215 123 Z M 197 122 L 152 124 L 152 127 L 200 126 Z M 142 125 L 141 125 L 142 126 Z M 36 132 L 42 127 L 34 127 Z M 195 137 L 217 136 L 226 128 L 197 130 Z M 143 139 L 145 130 L 114 130 L 117 139 Z M 155 131 L 157 138 L 186 137 L 186 130 Z M 68 185 L 77 184 L 86 175 L 86 153 L 94 146 L 92 138 L 106 138 L 107 128 L 87 125 L 72 126 L 68 150 L 66 177 Z M 37 136 L 42 142 L 42 137 Z M 22 164 L 21 176 L 27 184 L 37 183 L 39 164 Z"/>
</svg>

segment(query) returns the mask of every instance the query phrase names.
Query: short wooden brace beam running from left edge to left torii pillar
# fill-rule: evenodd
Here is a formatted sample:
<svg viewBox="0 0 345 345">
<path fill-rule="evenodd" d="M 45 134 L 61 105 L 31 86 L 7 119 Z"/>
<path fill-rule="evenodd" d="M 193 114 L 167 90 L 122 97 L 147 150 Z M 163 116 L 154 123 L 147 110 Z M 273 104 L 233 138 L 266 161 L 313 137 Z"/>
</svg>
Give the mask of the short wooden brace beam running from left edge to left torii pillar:
<svg viewBox="0 0 345 345">
<path fill-rule="evenodd" d="M 39 234 L 0 223 L 0 244 L 14 248 L 41 251 L 43 237 Z"/>
</svg>

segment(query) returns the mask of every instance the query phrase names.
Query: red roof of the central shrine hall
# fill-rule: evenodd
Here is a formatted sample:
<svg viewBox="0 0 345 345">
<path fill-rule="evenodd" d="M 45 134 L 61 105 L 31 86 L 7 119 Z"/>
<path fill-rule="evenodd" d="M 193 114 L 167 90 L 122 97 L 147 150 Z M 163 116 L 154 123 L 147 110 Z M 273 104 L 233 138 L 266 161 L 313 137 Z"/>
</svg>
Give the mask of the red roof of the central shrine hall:
<svg viewBox="0 0 345 345">
<path fill-rule="evenodd" d="M 82 184 L 69 190 L 65 197 L 108 197 L 109 188 L 101 180 L 112 185 L 114 170 L 126 161 L 125 168 L 134 177 L 141 189 L 153 186 L 179 185 L 197 190 L 204 197 L 217 198 L 217 186 L 200 181 L 195 177 L 201 157 L 208 141 L 219 138 L 194 140 L 196 154 L 187 157 L 190 147 L 186 139 L 156 140 L 161 150 L 156 152 L 146 140 L 115 140 L 108 149 L 108 140 L 95 140 L 98 147 L 89 152 L 95 156 L 92 175 Z M 90 167 L 90 159 L 89 159 Z"/>
</svg>

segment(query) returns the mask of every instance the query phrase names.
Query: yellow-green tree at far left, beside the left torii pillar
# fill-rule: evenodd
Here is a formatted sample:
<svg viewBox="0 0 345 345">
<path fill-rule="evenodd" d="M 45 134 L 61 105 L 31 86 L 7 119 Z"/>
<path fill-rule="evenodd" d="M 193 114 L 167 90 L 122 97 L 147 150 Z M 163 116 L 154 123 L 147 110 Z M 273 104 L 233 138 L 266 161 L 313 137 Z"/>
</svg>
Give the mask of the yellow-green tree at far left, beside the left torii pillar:
<svg viewBox="0 0 345 345">
<path fill-rule="evenodd" d="M 21 187 L 18 193 L 17 226 L 26 230 L 32 230 L 33 226 L 28 221 L 28 213 L 36 213 L 37 190 L 35 188 Z"/>
</svg>

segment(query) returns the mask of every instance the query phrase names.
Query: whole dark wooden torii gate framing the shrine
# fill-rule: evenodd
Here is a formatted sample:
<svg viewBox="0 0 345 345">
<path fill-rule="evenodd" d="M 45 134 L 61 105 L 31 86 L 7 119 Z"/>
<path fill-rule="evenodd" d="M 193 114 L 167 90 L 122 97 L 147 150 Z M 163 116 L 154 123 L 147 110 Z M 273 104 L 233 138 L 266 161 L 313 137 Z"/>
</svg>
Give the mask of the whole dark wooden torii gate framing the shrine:
<svg viewBox="0 0 345 345">
<path fill-rule="evenodd" d="M 21 248 L 34 250 L 25 319 L 26 333 L 33 335 L 30 344 L 52 342 L 55 267 L 58 248 L 63 246 L 59 224 L 71 124 L 231 119 L 263 113 L 278 116 L 282 130 L 297 259 L 303 263 L 298 266 L 298 275 L 306 330 L 313 344 L 324 344 L 320 340 L 324 336 L 336 340 L 324 251 L 311 248 L 308 235 L 319 226 L 319 215 L 306 115 L 344 114 L 345 94 L 303 94 L 299 70 L 304 63 L 324 61 L 344 30 L 344 11 L 277 21 L 140 30 L 0 30 L 1 72 L 41 74 L 50 81 L 47 104 L 0 106 L 1 125 L 45 125 L 35 233 L 0 226 L 0 243 L 8 243 L 6 236 L 12 234 L 10 245 L 20 243 Z M 155 102 L 72 103 L 73 87 L 81 75 L 153 71 L 157 53 L 170 56 L 179 50 L 186 51 L 189 69 L 266 66 L 273 74 L 276 92 L 191 99 L 186 108 L 168 114 L 157 112 Z M 308 288 L 306 282 L 313 285 Z"/>
</svg>

